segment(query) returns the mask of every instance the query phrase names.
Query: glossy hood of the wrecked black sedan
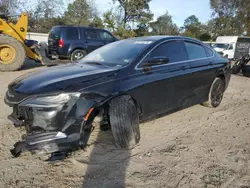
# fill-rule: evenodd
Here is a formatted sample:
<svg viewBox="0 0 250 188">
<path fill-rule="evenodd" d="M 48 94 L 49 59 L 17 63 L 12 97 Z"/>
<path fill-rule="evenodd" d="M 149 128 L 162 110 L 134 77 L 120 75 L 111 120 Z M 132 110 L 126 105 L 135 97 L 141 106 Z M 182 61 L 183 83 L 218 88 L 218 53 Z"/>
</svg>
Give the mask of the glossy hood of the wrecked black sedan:
<svg viewBox="0 0 250 188">
<path fill-rule="evenodd" d="M 77 91 L 97 80 L 100 83 L 103 78 L 114 75 L 118 70 L 118 67 L 92 64 L 60 65 L 25 74 L 9 84 L 9 90 L 26 94 Z"/>
</svg>

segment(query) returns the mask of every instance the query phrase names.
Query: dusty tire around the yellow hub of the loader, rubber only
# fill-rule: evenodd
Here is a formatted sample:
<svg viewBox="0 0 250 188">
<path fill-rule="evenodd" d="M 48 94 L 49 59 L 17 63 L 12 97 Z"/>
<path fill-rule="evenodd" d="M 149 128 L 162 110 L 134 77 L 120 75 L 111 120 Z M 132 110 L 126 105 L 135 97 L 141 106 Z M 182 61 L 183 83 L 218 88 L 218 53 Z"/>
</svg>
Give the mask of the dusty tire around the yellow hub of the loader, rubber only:
<svg viewBox="0 0 250 188">
<path fill-rule="evenodd" d="M 26 58 L 26 52 L 22 43 L 8 35 L 0 35 L 0 46 L 1 45 L 8 45 L 13 48 L 15 56 L 6 64 L 3 63 L 3 60 L 0 57 L 0 71 L 8 72 L 20 69 Z"/>
</svg>

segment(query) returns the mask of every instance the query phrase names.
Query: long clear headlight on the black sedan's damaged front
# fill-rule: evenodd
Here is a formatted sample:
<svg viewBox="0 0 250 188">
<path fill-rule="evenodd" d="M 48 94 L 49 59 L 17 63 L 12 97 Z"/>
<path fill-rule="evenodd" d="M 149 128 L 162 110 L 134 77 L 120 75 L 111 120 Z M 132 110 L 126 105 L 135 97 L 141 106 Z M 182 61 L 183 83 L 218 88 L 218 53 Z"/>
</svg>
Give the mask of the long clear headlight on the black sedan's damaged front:
<svg viewBox="0 0 250 188">
<path fill-rule="evenodd" d="M 77 99 L 80 93 L 61 93 L 58 95 L 33 96 L 23 101 L 20 106 L 52 108 L 67 103 L 71 99 Z"/>
</svg>

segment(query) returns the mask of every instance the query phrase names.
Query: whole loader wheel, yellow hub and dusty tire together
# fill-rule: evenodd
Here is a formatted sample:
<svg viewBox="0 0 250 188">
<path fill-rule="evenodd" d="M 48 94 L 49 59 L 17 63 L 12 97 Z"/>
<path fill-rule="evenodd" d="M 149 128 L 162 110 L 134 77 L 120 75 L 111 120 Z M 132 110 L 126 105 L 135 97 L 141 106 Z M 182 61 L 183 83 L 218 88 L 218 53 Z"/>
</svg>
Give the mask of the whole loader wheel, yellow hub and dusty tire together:
<svg viewBox="0 0 250 188">
<path fill-rule="evenodd" d="M 0 71 L 18 70 L 26 57 L 23 45 L 13 37 L 0 35 Z"/>
</svg>

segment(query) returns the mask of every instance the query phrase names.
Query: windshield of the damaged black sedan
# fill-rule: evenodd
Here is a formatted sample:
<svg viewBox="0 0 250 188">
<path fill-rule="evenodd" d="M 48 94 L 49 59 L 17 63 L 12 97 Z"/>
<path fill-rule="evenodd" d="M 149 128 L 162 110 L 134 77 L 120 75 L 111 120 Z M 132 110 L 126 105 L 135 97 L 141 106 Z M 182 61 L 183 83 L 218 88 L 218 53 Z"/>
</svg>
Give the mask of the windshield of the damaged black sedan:
<svg viewBox="0 0 250 188">
<path fill-rule="evenodd" d="M 91 52 L 80 63 L 98 63 L 107 66 L 126 66 L 152 41 L 121 40 L 107 44 Z"/>
</svg>

